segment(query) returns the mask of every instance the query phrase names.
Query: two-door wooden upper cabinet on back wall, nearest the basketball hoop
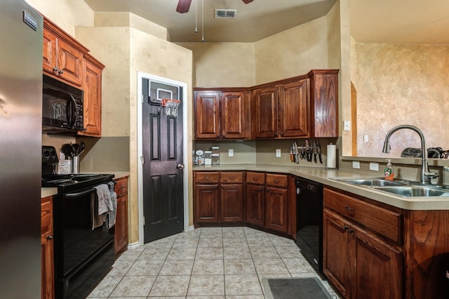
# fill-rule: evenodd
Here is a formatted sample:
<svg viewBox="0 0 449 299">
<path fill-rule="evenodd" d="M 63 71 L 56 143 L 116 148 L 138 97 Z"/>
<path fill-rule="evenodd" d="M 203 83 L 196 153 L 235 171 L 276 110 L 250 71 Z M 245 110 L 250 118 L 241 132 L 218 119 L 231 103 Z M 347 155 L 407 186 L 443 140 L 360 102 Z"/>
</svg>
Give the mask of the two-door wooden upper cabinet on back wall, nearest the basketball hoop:
<svg viewBox="0 0 449 299">
<path fill-rule="evenodd" d="M 208 91 L 194 93 L 195 139 L 249 139 L 249 91 Z"/>
</svg>

